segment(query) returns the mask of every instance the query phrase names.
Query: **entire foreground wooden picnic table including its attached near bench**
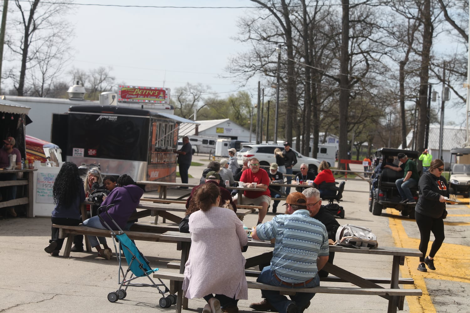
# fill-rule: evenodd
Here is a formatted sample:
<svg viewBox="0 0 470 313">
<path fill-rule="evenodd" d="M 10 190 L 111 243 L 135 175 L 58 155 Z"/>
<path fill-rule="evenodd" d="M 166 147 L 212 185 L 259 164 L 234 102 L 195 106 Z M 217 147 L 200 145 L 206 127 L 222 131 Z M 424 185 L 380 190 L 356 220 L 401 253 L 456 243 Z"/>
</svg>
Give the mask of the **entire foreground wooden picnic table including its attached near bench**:
<svg viewBox="0 0 470 313">
<path fill-rule="evenodd" d="M 188 260 L 189 248 L 191 244 L 191 235 L 168 231 L 160 235 L 161 242 L 173 242 L 178 244 L 178 249 L 181 250 L 180 259 L 180 273 L 164 273 L 156 272 L 155 277 L 170 279 L 170 285 L 178 291 L 176 312 L 180 313 L 181 308 L 188 307 L 188 299 L 183 299 L 183 292 L 181 290 L 181 281 L 183 279 L 184 267 Z M 255 241 L 249 240 L 249 246 L 258 247 L 274 247 L 269 241 Z M 331 252 L 345 252 L 345 253 L 359 253 L 368 255 L 389 255 L 392 256 L 392 275 L 389 278 L 363 278 L 355 275 L 341 267 L 327 263 L 324 267 L 331 275 L 337 278 L 331 278 L 331 282 L 348 282 L 356 285 L 357 287 L 324 287 L 318 286 L 315 288 L 302 289 L 303 292 L 315 293 L 338 293 L 338 294 L 354 294 L 354 295 L 378 295 L 388 299 L 388 313 L 396 313 L 397 309 L 402 310 L 404 305 L 405 296 L 421 296 L 422 290 L 420 289 L 399 289 L 399 284 L 402 282 L 414 283 L 410 279 L 399 278 L 399 266 L 404 264 L 405 256 L 419 257 L 422 253 L 418 249 L 407 249 L 397 247 L 378 247 L 376 249 L 354 249 L 343 246 L 330 245 Z M 256 257 L 255 257 L 256 258 Z M 160 276 L 161 275 L 161 276 Z M 246 273 L 245 273 L 246 275 Z M 390 288 L 384 288 L 377 285 L 377 283 L 390 283 Z M 259 282 L 248 282 L 248 288 L 278 290 L 284 292 L 293 292 L 290 288 L 275 287 L 266 285 Z M 297 290 L 298 291 L 298 290 Z"/>
</svg>

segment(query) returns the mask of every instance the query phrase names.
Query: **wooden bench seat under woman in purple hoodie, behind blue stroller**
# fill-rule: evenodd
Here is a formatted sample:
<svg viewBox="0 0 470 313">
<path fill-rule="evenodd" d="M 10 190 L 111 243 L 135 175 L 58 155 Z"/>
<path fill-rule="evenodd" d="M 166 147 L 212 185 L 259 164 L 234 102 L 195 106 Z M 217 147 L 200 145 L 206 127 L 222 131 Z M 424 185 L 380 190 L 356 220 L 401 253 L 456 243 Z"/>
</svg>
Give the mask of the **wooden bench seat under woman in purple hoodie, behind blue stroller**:
<svg viewBox="0 0 470 313">
<path fill-rule="evenodd" d="M 155 226 L 138 223 L 136 224 L 131 227 L 131 229 L 133 230 L 125 231 L 127 236 L 133 240 L 158 241 L 160 238 L 160 234 L 164 233 L 165 231 L 178 230 L 177 226 Z M 57 224 L 52 224 L 52 227 L 59 229 L 59 238 L 67 238 L 67 244 L 65 244 L 65 250 L 63 252 L 64 258 L 68 258 L 70 256 L 73 237 L 75 235 L 111 237 L 111 231 L 108 229 L 97 229 L 83 225 L 67 226 Z"/>
</svg>

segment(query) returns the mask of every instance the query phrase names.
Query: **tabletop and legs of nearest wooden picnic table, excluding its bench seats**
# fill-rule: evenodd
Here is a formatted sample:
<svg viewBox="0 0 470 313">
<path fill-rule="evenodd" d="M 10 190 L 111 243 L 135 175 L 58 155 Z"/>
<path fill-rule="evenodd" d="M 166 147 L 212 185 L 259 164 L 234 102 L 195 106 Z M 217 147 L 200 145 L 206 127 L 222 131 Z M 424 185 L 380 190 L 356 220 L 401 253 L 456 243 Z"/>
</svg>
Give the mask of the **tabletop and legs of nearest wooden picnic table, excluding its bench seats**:
<svg viewBox="0 0 470 313">
<path fill-rule="evenodd" d="M 180 233 L 176 231 L 167 231 L 160 235 L 160 241 L 162 242 L 172 242 L 177 243 L 178 247 L 181 249 L 181 259 L 180 259 L 180 274 L 184 273 L 185 264 L 188 260 L 189 249 L 191 246 L 191 234 Z M 274 244 L 270 241 L 258 241 L 258 240 L 248 240 L 249 246 L 265 247 L 265 248 L 274 248 Z M 359 254 L 368 254 L 368 255 L 389 255 L 392 257 L 392 275 L 390 277 L 390 288 L 399 289 L 399 267 L 405 262 L 405 257 L 420 257 L 423 255 L 418 249 L 409 249 L 409 248 L 398 248 L 398 247 L 378 247 L 375 249 L 354 249 L 347 248 L 338 245 L 330 245 L 330 252 L 341 252 L 341 253 L 359 253 Z M 255 257 L 256 258 L 256 257 Z M 360 288 L 383 288 L 377 285 L 375 282 L 372 282 L 368 279 L 365 279 L 359 275 L 355 275 L 344 268 L 338 267 L 336 265 L 327 263 L 324 267 L 325 270 L 329 271 L 331 275 L 335 275 L 338 278 L 342 279 L 344 282 L 350 282 Z M 180 290 L 179 290 L 180 291 Z M 383 295 L 380 296 L 389 300 L 388 302 L 388 313 L 396 313 L 397 309 L 403 310 L 403 300 L 402 296 L 391 296 Z M 178 306 L 180 305 L 180 306 Z M 177 297 L 177 308 L 176 312 L 181 311 L 181 305 L 186 309 L 188 306 L 188 299 L 182 298 L 182 292 L 178 292 Z M 178 311 L 179 310 L 179 311 Z"/>
</svg>

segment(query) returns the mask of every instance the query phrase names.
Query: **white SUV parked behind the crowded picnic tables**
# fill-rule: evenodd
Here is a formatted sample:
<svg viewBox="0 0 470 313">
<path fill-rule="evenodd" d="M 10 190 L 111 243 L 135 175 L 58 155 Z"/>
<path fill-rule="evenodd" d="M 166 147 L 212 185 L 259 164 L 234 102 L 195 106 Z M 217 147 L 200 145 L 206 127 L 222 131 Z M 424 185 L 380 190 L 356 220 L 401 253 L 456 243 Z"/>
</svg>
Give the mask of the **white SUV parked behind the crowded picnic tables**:
<svg viewBox="0 0 470 313">
<path fill-rule="evenodd" d="M 242 149 L 236 153 L 237 162 L 243 165 L 243 158 L 257 158 L 259 165 L 269 166 L 269 164 L 276 161 L 274 156 L 274 149 L 279 148 L 284 150 L 282 145 L 243 145 Z M 308 165 L 308 170 L 314 173 L 317 172 L 320 166 L 320 161 L 310 157 L 303 156 L 294 149 L 290 148 L 297 157 L 297 163 L 292 167 L 294 173 L 300 172 L 300 164 L 305 163 Z M 266 168 L 265 168 L 266 169 Z"/>
</svg>

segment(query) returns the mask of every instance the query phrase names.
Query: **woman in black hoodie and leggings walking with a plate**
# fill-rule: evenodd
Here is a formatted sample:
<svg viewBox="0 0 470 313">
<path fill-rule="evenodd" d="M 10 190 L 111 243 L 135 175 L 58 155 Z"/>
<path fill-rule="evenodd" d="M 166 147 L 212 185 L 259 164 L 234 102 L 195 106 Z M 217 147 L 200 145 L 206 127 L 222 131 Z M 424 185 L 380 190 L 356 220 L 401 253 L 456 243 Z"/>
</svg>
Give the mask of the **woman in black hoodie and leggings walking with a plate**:
<svg viewBox="0 0 470 313">
<path fill-rule="evenodd" d="M 449 197 L 449 187 L 446 178 L 442 176 L 444 162 L 436 159 L 431 161 L 429 170 L 419 179 L 419 200 L 415 206 L 415 219 L 421 235 L 419 251 L 423 255 L 419 258 L 418 271 L 427 272 L 426 265 L 431 270 L 434 267 L 434 256 L 444 242 L 444 221 L 446 218 L 446 199 Z M 434 235 L 431 251 L 428 251 L 429 239 Z"/>
</svg>

